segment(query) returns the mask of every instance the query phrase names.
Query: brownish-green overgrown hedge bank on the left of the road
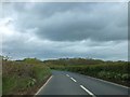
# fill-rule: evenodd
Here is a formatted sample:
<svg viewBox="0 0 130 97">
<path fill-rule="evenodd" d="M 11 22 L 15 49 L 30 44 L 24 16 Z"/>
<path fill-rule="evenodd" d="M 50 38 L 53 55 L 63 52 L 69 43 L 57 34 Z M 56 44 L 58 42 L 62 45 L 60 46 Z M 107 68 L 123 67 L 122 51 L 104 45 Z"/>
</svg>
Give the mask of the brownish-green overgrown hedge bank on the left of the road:
<svg viewBox="0 0 130 97">
<path fill-rule="evenodd" d="M 35 95 L 50 78 L 51 70 L 41 61 L 2 61 L 2 95 Z"/>
</svg>

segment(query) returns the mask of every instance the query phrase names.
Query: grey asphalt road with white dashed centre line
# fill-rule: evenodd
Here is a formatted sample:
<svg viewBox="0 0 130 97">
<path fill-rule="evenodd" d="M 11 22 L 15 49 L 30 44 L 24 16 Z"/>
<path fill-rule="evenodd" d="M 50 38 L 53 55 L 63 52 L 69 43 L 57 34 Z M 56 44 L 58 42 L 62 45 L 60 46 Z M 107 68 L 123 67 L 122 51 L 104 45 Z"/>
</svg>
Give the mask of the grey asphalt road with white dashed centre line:
<svg viewBox="0 0 130 97">
<path fill-rule="evenodd" d="M 52 71 L 37 95 L 128 95 L 128 87 L 68 71 Z M 112 96 L 110 96 L 112 97 Z"/>
</svg>

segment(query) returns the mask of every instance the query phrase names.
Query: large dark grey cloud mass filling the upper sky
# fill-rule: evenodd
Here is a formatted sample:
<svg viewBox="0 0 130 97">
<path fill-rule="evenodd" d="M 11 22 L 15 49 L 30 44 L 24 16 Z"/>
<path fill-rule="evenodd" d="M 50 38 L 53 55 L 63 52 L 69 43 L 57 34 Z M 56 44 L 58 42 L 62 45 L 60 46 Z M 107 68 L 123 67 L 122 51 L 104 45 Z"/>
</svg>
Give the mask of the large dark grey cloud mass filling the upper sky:
<svg viewBox="0 0 130 97">
<path fill-rule="evenodd" d="M 110 8 L 109 8 L 110 6 Z M 123 3 L 13 3 L 15 26 L 52 41 L 127 40 Z"/>
</svg>

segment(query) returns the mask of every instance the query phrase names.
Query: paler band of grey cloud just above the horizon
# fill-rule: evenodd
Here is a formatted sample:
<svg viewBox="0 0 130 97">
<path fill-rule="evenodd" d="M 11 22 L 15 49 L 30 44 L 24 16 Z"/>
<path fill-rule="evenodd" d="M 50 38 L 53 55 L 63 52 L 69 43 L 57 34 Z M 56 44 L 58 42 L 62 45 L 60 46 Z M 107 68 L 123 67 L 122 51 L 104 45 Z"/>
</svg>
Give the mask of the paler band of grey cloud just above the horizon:
<svg viewBox="0 0 130 97">
<path fill-rule="evenodd" d="M 53 41 L 10 41 L 3 45 L 3 53 L 12 58 L 37 57 L 40 59 L 65 58 L 65 57 L 91 57 L 101 59 L 127 59 L 127 41 L 122 42 L 93 42 L 83 40 L 77 42 Z M 20 43 L 21 42 L 21 43 Z"/>
</svg>

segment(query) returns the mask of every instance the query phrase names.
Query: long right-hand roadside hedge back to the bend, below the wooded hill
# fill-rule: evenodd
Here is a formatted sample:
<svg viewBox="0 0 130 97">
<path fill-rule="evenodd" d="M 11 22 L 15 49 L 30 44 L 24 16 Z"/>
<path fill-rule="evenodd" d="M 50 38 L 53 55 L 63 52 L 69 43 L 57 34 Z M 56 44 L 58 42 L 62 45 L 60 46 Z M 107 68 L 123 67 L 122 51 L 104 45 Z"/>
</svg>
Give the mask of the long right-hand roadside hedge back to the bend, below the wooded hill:
<svg viewBox="0 0 130 97">
<path fill-rule="evenodd" d="M 47 65 L 51 69 L 77 72 L 130 87 L 130 64 L 127 61 L 104 61 L 98 65 L 56 65 L 49 61 Z"/>
</svg>

